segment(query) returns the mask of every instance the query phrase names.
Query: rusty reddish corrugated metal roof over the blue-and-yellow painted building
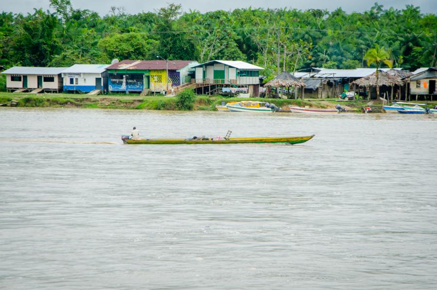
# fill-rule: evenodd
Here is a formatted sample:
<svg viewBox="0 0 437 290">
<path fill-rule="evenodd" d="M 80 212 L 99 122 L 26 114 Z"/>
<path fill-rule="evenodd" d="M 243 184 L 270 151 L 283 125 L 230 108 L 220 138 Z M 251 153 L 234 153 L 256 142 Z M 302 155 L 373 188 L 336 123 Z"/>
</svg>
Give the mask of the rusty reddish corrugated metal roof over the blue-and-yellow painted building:
<svg viewBox="0 0 437 290">
<path fill-rule="evenodd" d="M 168 69 L 175 71 L 185 68 L 187 65 L 196 65 L 197 61 L 194 60 L 169 60 Z M 165 70 L 165 60 L 122 60 L 118 63 L 110 65 L 107 70 Z"/>
</svg>

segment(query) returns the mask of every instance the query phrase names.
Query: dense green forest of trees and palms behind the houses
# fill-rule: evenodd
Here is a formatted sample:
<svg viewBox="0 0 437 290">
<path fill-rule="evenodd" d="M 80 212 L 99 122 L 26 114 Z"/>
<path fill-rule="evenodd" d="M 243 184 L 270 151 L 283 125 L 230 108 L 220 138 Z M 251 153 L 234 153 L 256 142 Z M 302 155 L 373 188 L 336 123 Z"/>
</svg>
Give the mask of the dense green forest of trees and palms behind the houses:
<svg viewBox="0 0 437 290">
<path fill-rule="evenodd" d="M 280 69 L 365 67 L 364 54 L 384 46 L 395 67 L 436 65 L 437 17 L 419 7 L 364 13 L 310 9 L 235 9 L 182 13 L 168 4 L 156 13 L 128 15 L 111 7 L 104 17 L 50 0 L 55 11 L 0 14 L 0 65 L 70 66 L 113 58 L 246 60 L 271 76 Z M 278 43 L 279 40 L 279 43 Z M 279 52 L 278 52 L 279 47 Z"/>
</svg>

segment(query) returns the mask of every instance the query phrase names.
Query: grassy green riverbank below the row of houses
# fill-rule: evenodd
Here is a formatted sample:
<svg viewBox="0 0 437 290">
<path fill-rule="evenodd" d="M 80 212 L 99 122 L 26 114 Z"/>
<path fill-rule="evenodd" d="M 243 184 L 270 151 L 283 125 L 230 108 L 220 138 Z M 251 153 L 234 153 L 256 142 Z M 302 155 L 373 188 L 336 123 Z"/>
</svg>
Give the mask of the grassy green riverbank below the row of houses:
<svg viewBox="0 0 437 290">
<path fill-rule="evenodd" d="M 325 100 L 302 100 L 302 99 L 266 99 L 266 98 L 229 98 L 224 96 L 198 95 L 194 99 L 194 110 L 216 110 L 215 106 L 222 102 L 233 101 L 263 101 L 274 103 L 278 107 L 295 105 L 308 108 L 335 108 L 336 104 L 346 107 L 350 112 L 361 112 L 366 106 L 366 101 L 337 102 L 335 99 Z M 183 110 L 177 102 L 177 97 L 167 96 L 139 96 L 139 95 L 97 95 L 88 96 L 85 94 L 17 94 L 0 93 L 0 104 L 10 104 L 16 107 L 41 107 L 41 108 L 83 108 L 83 109 L 151 109 L 151 110 Z M 437 102 L 433 102 L 434 107 Z M 429 102 L 427 103 L 429 104 Z M 429 105 L 430 106 L 430 105 Z"/>
</svg>

